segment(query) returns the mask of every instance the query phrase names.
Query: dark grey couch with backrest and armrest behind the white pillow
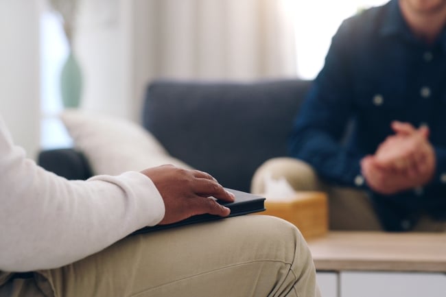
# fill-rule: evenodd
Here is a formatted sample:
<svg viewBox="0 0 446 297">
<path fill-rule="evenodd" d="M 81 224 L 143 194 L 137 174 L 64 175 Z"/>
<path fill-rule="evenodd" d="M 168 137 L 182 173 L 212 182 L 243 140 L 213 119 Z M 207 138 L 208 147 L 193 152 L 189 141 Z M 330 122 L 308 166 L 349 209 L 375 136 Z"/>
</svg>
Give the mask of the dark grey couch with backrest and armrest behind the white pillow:
<svg viewBox="0 0 446 297">
<path fill-rule="evenodd" d="M 287 137 L 311 81 L 156 81 L 148 86 L 143 126 L 167 151 L 207 171 L 224 187 L 249 191 L 257 167 L 287 155 Z M 72 149 L 40 152 L 38 163 L 69 179 L 91 176 Z"/>
</svg>

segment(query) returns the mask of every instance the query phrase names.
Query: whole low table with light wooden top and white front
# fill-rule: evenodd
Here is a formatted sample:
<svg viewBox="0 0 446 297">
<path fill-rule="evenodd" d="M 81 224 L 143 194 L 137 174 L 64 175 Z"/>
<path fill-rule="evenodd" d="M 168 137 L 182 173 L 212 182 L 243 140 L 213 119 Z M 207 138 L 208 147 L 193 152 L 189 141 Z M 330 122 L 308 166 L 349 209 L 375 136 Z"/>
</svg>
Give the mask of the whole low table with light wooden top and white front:
<svg viewBox="0 0 446 297">
<path fill-rule="evenodd" d="M 307 242 L 322 296 L 446 296 L 446 233 L 330 231 Z"/>
</svg>

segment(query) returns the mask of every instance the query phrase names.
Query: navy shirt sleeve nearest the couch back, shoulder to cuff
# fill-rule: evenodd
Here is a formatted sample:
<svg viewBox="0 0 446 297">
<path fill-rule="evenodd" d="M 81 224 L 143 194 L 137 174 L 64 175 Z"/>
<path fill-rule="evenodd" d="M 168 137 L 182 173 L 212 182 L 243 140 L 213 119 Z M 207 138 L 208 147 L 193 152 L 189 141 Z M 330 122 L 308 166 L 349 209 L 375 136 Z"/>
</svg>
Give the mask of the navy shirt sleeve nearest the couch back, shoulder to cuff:
<svg viewBox="0 0 446 297">
<path fill-rule="evenodd" d="M 290 154 L 312 165 L 318 176 L 348 187 L 364 187 L 362 156 L 348 152 L 341 144 L 351 121 L 354 93 L 351 54 L 346 47 L 353 26 L 344 23 L 333 36 L 325 66 L 318 74 L 294 122 Z"/>
</svg>

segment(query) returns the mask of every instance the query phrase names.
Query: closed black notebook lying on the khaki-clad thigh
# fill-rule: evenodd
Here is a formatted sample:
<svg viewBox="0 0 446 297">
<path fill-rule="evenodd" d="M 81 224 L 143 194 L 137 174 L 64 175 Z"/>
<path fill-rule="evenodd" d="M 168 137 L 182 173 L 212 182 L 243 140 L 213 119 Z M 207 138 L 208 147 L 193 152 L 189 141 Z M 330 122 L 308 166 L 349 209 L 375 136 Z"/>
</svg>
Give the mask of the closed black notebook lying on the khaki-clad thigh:
<svg viewBox="0 0 446 297">
<path fill-rule="evenodd" d="M 247 215 L 248 213 L 258 213 L 260 211 L 265 211 L 265 198 L 259 195 L 245 193 L 242 191 L 236 191 L 233 189 L 226 189 L 226 190 L 235 195 L 235 201 L 224 202 L 222 200 L 217 200 L 217 202 L 228 207 L 228 209 L 231 209 L 231 213 L 227 217 L 236 217 L 238 215 Z M 194 215 L 192 217 L 184 219 L 183 221 L 180 222 L 176 222 L 174 224 L 144 227 L 139 230 L 136 230 L 134 233 L 132 233 L 132 235 L 148 233 L 155 230 L 164 230 L 167 228 L 174 228 L 177 226 L 184 226 L 200 222 L 207 222 L 215 219 L 224 219 L 224 218 L 226 217 L 220 217 L 219 215 L 209 215 L 209 214 Z"/>
</svg>

